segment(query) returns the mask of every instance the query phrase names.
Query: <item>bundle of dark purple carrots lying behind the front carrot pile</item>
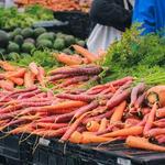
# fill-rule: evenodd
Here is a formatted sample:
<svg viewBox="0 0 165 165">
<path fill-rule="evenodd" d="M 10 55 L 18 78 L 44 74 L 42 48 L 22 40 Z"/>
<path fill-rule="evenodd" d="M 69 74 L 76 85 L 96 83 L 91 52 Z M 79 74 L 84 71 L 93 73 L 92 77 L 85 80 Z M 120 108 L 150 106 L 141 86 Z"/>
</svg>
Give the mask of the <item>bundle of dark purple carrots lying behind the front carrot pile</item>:
<svg viewBox="0 0 165 165">
<path fill-rule="evenodd" d="M 84 88 L 99 80 L 99 74 L 103 69 L 97 65 L 74 65 L 53 69 L 48 73 L 47 82 L 54 85 L 54 89 L 72 90 Z M 78 90 L 77 90 L 78 91 Z"/>
</svg>

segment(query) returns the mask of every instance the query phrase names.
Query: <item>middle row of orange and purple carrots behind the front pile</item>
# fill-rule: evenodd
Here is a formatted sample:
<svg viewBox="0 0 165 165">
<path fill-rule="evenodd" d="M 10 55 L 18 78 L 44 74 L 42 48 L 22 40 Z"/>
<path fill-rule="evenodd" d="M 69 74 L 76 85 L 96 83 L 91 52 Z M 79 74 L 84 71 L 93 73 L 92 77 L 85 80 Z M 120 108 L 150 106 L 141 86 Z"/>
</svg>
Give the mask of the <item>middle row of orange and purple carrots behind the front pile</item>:
<svg viewBox="0 0 165 165">
<path fill-rule="evenodd" d="M 103 70 L 95 64 L 73 65 L 58 67 L 48 73 L 34 62 L 28 67 L 19 67 L 9 62 L 0 61 L 0 88 L 13 91 L 16 87 L 30 88 L 34 85 L 43 88 L 53 86 L 54 90 L 73 91 L 78 88 L 82 90 L 91 82 L 99 81 L 99 74 Z"/>
</svg>

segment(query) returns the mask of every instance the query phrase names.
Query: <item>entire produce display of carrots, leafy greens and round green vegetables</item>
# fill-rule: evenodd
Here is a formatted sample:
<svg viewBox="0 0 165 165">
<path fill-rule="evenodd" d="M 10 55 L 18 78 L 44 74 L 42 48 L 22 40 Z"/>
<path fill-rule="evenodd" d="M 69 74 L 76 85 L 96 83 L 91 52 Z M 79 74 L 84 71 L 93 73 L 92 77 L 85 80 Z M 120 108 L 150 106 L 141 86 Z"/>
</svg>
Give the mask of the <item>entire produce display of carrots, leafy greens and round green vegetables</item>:
<svg viewBox="0 0 165 165">
<path fill-rule="evenodd" d="M 76 0 L 16 2 L 54 11 L 86 12 L 89 7 Z M 52 16 L 40 6 L 23 13 L 0 9 L 1 139 L 95 146 L 124 142 L 165 152 L 165 40 L 141 36 L 134 25 L 107 52 L 92 54 L 80 38 L 32 28 Z"/>
</svg>

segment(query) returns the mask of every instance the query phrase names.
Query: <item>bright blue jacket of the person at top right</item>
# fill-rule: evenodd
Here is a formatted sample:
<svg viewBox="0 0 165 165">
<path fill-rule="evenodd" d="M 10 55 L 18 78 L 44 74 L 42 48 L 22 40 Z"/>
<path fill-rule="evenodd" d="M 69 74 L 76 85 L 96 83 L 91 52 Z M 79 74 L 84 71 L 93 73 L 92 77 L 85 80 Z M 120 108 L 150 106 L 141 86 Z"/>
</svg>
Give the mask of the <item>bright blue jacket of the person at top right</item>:
<svg viewBox="0 0 165 165">
<path fill-rule="evenodd" d="M 143 24 L 143 34 L 162 30 L 165 35 L 165 0 L 135 0 L 133 22 Z"/>
</svg>

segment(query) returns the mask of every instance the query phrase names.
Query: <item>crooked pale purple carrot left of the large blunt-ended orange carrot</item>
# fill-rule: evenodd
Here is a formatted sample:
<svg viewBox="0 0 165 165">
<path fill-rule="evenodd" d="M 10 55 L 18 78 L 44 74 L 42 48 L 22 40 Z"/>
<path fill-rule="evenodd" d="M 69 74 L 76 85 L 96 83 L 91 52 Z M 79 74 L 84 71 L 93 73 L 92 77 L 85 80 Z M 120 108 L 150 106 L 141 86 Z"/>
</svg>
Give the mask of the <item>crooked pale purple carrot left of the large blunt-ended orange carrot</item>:
<svg viewBox="0 0 165 165">
<path fill-rule="evenodd" d="M 138 95 L 141 94 L 141 92 L 143 92 L 144 90 L 145 90 L 144 82 L 139 84 L 138 86 L 135 86 L 132 89 L 130 107 L 134 107 L 134 103 L 138 100 Z"/>
</svg>

